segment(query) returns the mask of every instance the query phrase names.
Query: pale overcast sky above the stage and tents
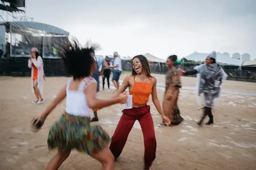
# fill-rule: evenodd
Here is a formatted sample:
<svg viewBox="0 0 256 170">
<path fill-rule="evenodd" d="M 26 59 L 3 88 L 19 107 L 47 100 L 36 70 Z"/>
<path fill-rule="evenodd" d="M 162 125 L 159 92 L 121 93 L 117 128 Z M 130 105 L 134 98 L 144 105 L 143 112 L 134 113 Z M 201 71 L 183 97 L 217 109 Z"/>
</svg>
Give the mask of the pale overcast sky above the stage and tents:
<svg viewBox="0 0 256 170">
<path fill-rule="evenodd" d="M 256 58 L 256 0 L 26 0 L 26 15 L 110 55 L 160 58 L 194 51 Z"/>
</svg>

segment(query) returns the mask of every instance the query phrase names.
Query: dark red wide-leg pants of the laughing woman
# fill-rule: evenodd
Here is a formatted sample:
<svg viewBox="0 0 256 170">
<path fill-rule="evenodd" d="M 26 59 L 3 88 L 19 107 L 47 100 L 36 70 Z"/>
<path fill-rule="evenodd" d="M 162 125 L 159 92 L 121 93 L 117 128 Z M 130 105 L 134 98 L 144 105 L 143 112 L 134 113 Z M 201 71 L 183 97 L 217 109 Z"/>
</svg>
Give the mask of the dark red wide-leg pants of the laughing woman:
<svg viewBox="0 0 256 170">
<path fill-rule="evenodd" d="M 151 166 L 155 159 L 156 139 L 154 123 L 150 113 L 150 106 L 146 105 L 139 108 L 124 109 L 122 112 L 123 115 L 121 116 L 115 133 L 111 138 L 109 149 L 115 158 L 118 158 L 123 150 L 127 137 L 132 130 L 133 124 L 138 120 L 144 137 L 145 166 Z"/>
</svg>

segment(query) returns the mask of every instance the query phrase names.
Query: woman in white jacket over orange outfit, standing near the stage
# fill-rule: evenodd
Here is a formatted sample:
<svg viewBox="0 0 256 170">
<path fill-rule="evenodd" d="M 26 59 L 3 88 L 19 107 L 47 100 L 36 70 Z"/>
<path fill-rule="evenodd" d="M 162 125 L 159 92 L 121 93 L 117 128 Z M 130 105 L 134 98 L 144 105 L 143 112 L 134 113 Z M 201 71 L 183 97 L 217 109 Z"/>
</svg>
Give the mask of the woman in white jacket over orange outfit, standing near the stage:
<svg viewBox="0 0 256 170">
<path fill-rule="evenodd" d="M 31 57 L 28 60 L 28 67 L 31 68 L 32 92 L 34 91 L 36 100 L 33 103 L 40 104 L 43 102 L 43 79 L 44 68 L 43 60 L 39 55 L 37 48 L 31 49 Z"/>
</svg>

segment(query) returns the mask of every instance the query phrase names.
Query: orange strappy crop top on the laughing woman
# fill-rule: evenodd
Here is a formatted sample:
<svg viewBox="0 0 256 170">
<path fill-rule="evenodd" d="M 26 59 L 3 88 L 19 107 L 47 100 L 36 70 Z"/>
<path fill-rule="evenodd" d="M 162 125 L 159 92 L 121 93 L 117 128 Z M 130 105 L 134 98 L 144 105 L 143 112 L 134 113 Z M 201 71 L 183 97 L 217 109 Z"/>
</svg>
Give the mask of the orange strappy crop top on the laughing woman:
<svg viewBox="0 0 256 170">
<path fill-rule="evenodd" d="M 150 83 L 135 82 L 135 76 L 133 76 L 134 85 L 130 95 L 133 95 L 133 104 L 145 104 L 149 101 L 149 96 L 152 93 L 151 81 Z"/>
</svg>

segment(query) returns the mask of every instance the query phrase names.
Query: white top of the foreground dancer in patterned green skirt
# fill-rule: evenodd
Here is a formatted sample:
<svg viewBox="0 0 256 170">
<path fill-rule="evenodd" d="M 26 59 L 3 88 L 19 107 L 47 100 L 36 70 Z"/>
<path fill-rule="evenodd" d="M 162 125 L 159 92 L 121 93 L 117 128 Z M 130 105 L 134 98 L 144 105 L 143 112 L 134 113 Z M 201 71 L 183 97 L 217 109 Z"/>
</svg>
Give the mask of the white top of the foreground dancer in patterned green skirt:
<svg viewBox="0 0 256 170">
<path fill-rule="evenodd" d="M 86 94 L 84 90 L 91 84 L 97 81 L 92 77 L 86 77 L 80 84 L 78 90 L 69 90 L 70 83 L 73 78 L 67 82 L 66 87 L 66 112 L 75 116 L 91 117 L 92 109 L 90 109 L 86 102 Z M 95 91 L 96 93 L 96 91 Z"/>
</svg>

